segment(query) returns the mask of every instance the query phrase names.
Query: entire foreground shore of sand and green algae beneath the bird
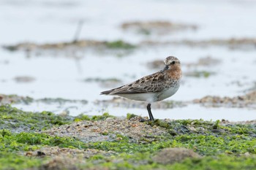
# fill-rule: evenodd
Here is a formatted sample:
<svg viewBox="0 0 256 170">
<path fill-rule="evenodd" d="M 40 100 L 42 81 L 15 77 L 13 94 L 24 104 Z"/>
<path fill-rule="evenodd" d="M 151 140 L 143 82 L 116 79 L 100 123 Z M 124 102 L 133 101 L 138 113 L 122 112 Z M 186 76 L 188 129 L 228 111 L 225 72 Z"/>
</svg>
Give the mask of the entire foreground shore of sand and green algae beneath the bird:
<svg viewBox="0 0 256 170">
<path fill-rule="evenodd" d="M 0 107 L 0 169 L 255 169 L 255 121 L 89 117 Z M 18 131 L 17 129 L 22 129 Z"/>
</svg>

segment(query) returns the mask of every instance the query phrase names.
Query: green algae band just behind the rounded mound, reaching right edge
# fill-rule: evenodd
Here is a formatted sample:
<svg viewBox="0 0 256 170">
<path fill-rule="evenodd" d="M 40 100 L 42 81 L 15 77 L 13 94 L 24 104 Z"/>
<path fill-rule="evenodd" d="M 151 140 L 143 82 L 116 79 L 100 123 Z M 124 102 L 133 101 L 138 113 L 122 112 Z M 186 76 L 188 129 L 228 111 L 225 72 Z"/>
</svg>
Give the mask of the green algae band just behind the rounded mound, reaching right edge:
<svg viewBox="0 0 256 170">
<path fill-rule="evenodd" d="M 97 150 L 113 150 L 115 152 L 151 152 L 166 147 L 186 147 L 200 155 L 217 155 L 221 153 L 242 154 L 245 152 L 256 153 L 256 139 L 249 137 L 233 136 L 232 138 L 205 136 L 205 135 L 179 135 L 173 138 L 162 137 L 162 140 L 145 144 L 132 143 L 129 139 L 122 138 L 119 142 L 94 142 L 86 144 L 87 147 Z"/>
</svg>

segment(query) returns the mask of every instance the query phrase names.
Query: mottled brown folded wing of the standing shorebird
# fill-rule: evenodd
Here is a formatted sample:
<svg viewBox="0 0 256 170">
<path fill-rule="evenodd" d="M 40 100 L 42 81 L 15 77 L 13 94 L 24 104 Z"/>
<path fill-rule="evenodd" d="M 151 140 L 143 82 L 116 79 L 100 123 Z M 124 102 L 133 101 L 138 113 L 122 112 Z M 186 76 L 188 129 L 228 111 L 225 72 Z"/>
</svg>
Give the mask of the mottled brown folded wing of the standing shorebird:
<svg viewBox="0 0 256 170">
<path fill-rule="evenodd" d="M 165 86 L 165 74 L 157 72 L 155 74 L 143 77 L 135 82 L 123 85 L 119 88 L 111 90 L 110 95 L 114 94 L 132 94 L 132 93 L 148 93 L 159 92 L 166 88 Z"/>
</svg>

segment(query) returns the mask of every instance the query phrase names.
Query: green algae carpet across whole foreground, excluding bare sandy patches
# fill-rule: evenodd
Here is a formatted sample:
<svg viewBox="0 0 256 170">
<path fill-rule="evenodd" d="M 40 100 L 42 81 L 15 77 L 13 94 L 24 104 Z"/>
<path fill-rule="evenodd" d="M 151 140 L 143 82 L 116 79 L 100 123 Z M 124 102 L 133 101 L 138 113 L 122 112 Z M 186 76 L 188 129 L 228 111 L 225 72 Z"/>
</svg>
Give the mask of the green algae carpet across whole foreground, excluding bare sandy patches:
<svg viewBox="0 0 256 170">
<path fill-rule="evenodd" d="M 146 124 L 164 128 L 169 134 L 154 136 L 154 139 L 145 137 L 138 141 L 125 134 L 116 134 L 116 141 L 113 142 L 85 143 L 74 137 L 51 136 L 38 132 L 40 128 L 47 129 L 82 120 L 105 120 L 108 117 L 113 116 L 104 113 L 93 117 L 59 117 L 51 112 L 23 112 L 10 105 L 1 106 L 1 128 L 6 128 L 0 130 L 0 169 L 41 169 L 45 160 L 50 157 L 34 158 L 20 152 L 45 146 L 115 152 L 110 156 L 94 155 L 86 160 L 86 164 L 78 163 L 77 169 L 256 169 L 256 125 L 253 123 L 242 125 L 223 124 L 219 120 L 155 120 Z M 127 115 L 129 120 L 132 117 L 135 115 Z M 8 126 L 8 122 L 29 124 L 35 128 L 15 131 L 20 126 Z M 26 127 L 31 128 L 29 125 Z M 152 157 L 167 147 L 189 148 L 202 157 L 187 158 L 167 165 L 154 162 Z"/>
</svg>

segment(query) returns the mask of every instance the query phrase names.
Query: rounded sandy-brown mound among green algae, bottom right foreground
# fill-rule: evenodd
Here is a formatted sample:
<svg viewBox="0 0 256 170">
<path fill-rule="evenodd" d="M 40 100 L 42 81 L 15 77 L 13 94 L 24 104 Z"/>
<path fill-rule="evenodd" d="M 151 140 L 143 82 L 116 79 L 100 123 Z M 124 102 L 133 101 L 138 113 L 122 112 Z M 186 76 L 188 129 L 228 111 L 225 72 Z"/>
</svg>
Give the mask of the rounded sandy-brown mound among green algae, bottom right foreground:
<svg viewBox="0 0 256 170">
<path fill-rule="evenodd" d="M 200 155 L 198 155 L 193 150 L 189 150 L 186 148 L 165 148 L 153 157 L 153 161 L 157 163 L 168 164 L 181 162 L 185 158 L 200 158 Z"/>
</svg>

